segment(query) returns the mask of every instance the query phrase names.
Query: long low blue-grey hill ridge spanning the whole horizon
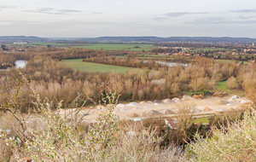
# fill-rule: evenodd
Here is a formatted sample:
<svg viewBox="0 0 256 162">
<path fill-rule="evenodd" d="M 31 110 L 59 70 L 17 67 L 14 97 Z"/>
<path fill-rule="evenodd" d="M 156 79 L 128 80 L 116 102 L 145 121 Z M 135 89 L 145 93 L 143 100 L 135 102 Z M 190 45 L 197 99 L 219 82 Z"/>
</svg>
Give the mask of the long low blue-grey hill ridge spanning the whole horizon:
<svg viewBox="0 0 256 162">
<path fill-rule="evenodd" d="M 38 38 L 26 36 L 0 36 L 0 43 L 14 43 L 14 42 L 72 42 L 85 41 L 88 43 L 161 43 L 161 42 L 179 42 L 179 43 L 256 43 L 256 38 L 212 38 L 212 37 L 101 37 L 101 38 Z"/>
</svg>

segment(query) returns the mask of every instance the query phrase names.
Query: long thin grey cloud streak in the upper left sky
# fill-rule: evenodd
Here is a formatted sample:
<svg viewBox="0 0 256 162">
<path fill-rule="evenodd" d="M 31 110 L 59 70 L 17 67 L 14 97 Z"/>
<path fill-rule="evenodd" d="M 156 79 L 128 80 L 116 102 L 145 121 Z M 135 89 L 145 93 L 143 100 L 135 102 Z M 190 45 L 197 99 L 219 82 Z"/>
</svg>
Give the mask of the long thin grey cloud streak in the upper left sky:
<svg viewBox="0 0 256 162">
<path fill-rule="evenodd" d="M 41 14 L 70 14 L 79 13 L 81 11 L 75 9 L 53 9 L 53 8 L 39 8 L 35 10 L 24 10 L 26 12 L 41 13 Z"/>
</svg>

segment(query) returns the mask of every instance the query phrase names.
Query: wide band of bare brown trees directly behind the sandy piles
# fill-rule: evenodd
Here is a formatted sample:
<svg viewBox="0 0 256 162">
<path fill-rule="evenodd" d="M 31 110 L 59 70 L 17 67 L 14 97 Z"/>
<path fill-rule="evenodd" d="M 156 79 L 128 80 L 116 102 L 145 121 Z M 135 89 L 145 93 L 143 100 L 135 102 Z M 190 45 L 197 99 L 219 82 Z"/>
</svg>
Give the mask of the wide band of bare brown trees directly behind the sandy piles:
<svg viewBox="0 0 256 162">
<path fill-rule="evenodd" d="M 156 100 L 183 95 L 182 91 L 196 93 L 201 90 L 215 90 L 217 83 L 225 80 L 230 80 L 230 84 L 235 82 L 235 86 L 230 86 L 231 89 L 246 90 L 248 95 L 253 96 L 256 87 L 254 69 L 255 64 L 237 66 L 235 63 L 219 63 L 199 58 L 188 67 L 158 67 L 157 70 L 125 73 L 90 73 L 73 70 L 61 61 L 38 55 L 28 61 L 21 72 L 42 98 L 46 97 L 55 103 L 63 100 L 65 107 L 68 107 L 78 93 L 84 99 L 91 97 L 99 100 L 103 89 L 121 94 L 120 101 Z M 17 75 L 16 72 L 1 72 L 1 84 L 15 84 Z M 29 95 L 23 97 L 29 100 Z"/>
</svg>

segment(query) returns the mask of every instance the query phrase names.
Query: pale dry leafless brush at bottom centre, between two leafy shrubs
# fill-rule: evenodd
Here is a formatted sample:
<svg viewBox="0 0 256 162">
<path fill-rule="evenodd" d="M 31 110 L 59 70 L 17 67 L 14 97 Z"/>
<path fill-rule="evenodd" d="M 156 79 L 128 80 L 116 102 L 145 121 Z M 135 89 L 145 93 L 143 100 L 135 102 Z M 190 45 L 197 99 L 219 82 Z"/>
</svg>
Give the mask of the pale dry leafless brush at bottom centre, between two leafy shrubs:
<svg viewBox="0 0 256 162">
<path fill-rule="evenodd" d="M 126 130 L 119 132 L 119 140 L 111 150 L 114 161 L 183 161 L 182 150 L 175 145 L 169 148 L 160 148 L 162 137 L 156 137 L 155 131 L 145 128 L 142 124 L 129 125 Z"/>
</svg>

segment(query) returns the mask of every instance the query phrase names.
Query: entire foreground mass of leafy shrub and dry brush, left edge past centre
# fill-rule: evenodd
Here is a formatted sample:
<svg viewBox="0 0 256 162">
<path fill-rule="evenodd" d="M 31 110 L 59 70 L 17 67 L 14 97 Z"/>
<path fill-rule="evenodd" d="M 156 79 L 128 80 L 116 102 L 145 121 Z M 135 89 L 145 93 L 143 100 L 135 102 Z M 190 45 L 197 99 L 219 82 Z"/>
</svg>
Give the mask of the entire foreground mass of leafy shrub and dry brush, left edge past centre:
<svg viewBox="0 0 256 162">
<path fill-rule="evenodd" d="M 24 77 L 23 77 L 24 78 Z M 118 101 L 115 93 L 104 90 L 96 123 L 88 131 L 79 130 L 79 124 L 89 112 L 82 112 L 79 97 L 73 102 L 73 109 L 61 112 L 61 102 L 54 107 L 49 101 L 41 101 L 32 89 L 34 112 L 21 113 L 16 107 L 0 105 L 1 109 L 15 116 L 17 125 L 12 129 L 16 134 L 4 138 L 4 146 L 9 146 L 14 159 L 25 156 L 40 161 L 173 161 L 183 158 L 176 147 L 161 148 L 163 138 L 155 136 L 147 129 L 133 131 L 119 130 L 119 117 L 113 114 Z M 9 95 L 12 96 L 12 95 Z M 14 95 L 15 96 L 15 95 Z M 34 124 L 40 123 L 40 124 Z M 130 132 L 130 133 L 129 133 Z M 134 133 L 131 133 L 134 132 Z M 0 148 L 1 150 L 1 148 Z"/>
</svg>

